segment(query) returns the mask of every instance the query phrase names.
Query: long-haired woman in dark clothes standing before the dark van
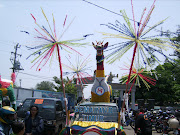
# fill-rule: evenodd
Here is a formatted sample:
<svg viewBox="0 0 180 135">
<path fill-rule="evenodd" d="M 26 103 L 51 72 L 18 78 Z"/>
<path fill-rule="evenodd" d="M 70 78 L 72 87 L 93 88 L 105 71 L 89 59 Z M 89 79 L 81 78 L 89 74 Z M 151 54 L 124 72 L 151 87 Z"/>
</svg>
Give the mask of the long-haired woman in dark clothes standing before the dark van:
<svg viewBox="0 0 180 135">
<path fill-rule="evenodd" d="M 44 130 L 43 119 L 38 115 L 38 107 L 30 106 L 30 115 L 25 118 L 26 135 L 42 135 Z"/>
</svg>

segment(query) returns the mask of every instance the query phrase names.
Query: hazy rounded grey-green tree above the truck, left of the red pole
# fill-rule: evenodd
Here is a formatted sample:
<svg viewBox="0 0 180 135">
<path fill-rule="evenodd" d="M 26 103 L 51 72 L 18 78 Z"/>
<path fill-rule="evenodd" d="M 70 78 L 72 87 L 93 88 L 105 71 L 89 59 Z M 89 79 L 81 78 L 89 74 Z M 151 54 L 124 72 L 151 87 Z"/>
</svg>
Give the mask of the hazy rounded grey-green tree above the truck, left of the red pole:
<svg viewBox="0 0 180 135">
<path fill-rule="evenodd" d="M 36 89 L 38 89 L 38 90 L 54 91 L 54 87 L 55 87 L 55 85 L 49 81 L 42 81 L 42 82 L 36 84 Z"/>
</svg>

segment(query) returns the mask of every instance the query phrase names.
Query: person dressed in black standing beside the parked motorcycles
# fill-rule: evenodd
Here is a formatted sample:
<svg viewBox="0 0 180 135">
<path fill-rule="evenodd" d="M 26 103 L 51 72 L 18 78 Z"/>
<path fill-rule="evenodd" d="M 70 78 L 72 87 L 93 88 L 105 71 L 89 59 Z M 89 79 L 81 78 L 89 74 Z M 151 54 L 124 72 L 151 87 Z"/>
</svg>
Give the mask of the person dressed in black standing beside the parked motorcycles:
<svg viewBox="0 0 180 135">
<path fill-rule="evenodd" d="M 141 108 L 135 120 L 135 132 L 137 135 L 152 135 L 152 125 L 144 114 L 144 109 Z"/>
</svg>

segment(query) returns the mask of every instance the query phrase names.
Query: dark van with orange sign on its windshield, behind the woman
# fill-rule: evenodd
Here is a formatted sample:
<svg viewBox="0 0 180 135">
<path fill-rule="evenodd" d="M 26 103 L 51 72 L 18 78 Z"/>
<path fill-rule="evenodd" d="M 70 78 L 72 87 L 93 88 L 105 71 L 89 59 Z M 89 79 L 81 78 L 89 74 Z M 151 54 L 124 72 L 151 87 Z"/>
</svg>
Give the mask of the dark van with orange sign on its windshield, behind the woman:
<svg viewBox="0 0 180 135">
<path fill-rule="evenodd" d="M 56 98 L 26 98 L 17 111 L 17 118 L 23 120 L 29 115 L 31 105 L 39 108 L 39 115 L 44 120 L 44 134 L 56 134 L 65 127 L 66 115 L 62 101 Z"/>
</svg>

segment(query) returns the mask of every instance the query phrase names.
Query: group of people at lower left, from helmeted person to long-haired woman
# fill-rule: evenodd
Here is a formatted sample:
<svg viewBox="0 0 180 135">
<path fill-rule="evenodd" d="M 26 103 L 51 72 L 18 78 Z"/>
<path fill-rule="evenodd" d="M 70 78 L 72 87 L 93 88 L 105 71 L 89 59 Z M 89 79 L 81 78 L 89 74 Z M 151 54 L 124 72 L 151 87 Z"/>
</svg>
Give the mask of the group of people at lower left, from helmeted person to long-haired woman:
<svg viewBox="0 0 180 135">
<path fill-rule="evenodd" d="M 18 121 L 15 109 L 4 98 L 0 108 L 0 135 L 42 135 L 44 123 L 38 115 L 38 107 L 33 105 L 29 111 L 24 122 Z"/>
</svg>

